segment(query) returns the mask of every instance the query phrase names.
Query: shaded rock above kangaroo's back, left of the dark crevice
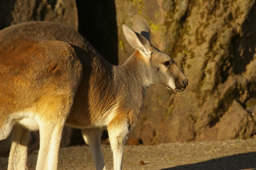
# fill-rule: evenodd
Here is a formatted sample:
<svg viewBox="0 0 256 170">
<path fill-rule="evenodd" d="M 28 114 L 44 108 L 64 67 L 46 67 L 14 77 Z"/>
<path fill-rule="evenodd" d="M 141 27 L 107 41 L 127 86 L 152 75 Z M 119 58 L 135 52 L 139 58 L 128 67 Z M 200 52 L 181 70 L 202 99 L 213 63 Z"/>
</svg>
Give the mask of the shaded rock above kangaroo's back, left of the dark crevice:
<svg viewBox="0 0 256 170">
<path fill-rule="evenodd" d="M 26 21 L 51 21 L 78 30 L 75 0 L 1 0 L 0 30 Z"/>
</svg>

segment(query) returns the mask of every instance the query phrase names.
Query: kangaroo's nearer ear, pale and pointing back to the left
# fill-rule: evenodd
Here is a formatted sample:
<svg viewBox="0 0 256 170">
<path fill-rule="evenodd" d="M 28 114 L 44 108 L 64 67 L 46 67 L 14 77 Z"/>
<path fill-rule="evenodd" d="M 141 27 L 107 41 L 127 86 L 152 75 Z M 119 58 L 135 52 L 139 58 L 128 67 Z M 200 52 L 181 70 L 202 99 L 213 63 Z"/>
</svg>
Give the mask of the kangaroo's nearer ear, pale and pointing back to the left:
<svg viewBox="0 0 256 170">
<path fill-rule="evenodd" d="M 133 30 L 131 30 L 127 25 L 122 25 L 125 38 L 128 43 L 135 49 L 141 51 L 145 55 L 150 55 L 150 42 L 140 34 L 137 34 Z"/>
</svg>

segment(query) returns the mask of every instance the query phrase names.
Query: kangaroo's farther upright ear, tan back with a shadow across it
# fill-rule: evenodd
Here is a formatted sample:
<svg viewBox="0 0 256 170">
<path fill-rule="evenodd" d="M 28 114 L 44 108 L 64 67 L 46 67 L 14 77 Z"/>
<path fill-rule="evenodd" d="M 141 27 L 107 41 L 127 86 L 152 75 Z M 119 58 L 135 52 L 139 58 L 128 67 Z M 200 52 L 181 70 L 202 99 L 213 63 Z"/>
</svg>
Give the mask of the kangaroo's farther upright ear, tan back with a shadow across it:
<svg viewBox="0 0 256 170">
<path fill-rule="evenodd" d="M 144 36 L 150 42 L 150 29 L 148 21 L 141 15 L 135 15 L 133 18 L 133 30 Z"/>
</svg>

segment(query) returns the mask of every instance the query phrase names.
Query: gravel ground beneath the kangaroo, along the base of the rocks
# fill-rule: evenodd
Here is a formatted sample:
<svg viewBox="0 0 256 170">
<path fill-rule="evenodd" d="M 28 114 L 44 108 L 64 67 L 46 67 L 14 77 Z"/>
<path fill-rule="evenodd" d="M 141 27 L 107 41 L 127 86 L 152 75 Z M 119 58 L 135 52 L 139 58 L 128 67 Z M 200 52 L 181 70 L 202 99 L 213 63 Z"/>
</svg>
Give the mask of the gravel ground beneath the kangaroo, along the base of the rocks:
<svg viewBox="0 0 256 170">
<path fill-rule="evenodd" d="M 113 159 L 109 145 L 102 145 L 107 169 Z M 35 169 L 37 151 L 28 156 L 28 169 Z M 0 157 L 0 170 L 8 158 Z M 145 165 L 140 165 L 144 161 Z M 58 169 L 95 169 L 88 146 L 61 148 Z M 222 142 L 168 143 L 156 146 L 125 146 L 123 169 L 127 170 L 256 170 L 256 139 Z"/>
</svg>

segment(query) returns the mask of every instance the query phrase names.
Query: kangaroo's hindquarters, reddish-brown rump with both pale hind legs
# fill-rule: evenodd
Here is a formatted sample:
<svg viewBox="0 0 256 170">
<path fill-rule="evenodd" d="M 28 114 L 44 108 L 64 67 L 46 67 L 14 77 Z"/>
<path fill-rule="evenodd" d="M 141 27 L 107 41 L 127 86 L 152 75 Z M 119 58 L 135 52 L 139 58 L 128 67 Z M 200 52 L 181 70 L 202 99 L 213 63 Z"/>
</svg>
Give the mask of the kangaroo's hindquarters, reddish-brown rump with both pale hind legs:
<svg viewBox="0 0 256 170">
<path fill-rule="evenodd" d="M 76 37 L 56 34 L 63 30 Z M 37 169 L 57 168 L 62 128 L 83 75 L 78 54 L 93 51 L 77 32 L 50 22 L 0 31 L 0 140 L 12 130 L 13 141 L 8 169 L 27 169 L 29 130 L 40 131 Z"/>
</svg>

